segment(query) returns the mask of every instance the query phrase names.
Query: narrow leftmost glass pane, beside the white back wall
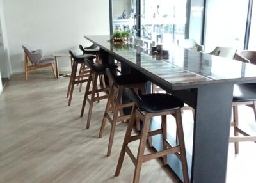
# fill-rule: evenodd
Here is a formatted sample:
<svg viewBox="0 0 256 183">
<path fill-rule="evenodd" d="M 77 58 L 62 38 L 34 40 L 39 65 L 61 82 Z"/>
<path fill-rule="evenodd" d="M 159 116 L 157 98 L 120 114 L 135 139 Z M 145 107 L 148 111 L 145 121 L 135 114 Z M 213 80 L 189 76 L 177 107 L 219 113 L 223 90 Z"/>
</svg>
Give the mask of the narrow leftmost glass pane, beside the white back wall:
<svg viewBox="0 0 256 183">
<path fill-rule="evenodd" d="M 136 0 L 112 0 L 112 26 L 114 31 L 130 31 L 136 35 Z"/>
</svg>

